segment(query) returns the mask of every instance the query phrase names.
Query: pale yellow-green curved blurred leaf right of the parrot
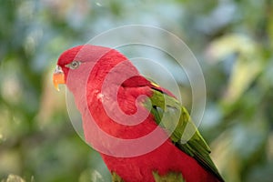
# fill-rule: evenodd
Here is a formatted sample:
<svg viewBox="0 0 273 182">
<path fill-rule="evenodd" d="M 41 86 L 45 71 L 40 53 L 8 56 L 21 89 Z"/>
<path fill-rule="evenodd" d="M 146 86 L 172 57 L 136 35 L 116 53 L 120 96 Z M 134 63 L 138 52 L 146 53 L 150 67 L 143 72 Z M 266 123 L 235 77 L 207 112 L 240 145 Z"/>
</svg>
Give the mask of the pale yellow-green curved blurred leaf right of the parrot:
<svg viewBox="0 0 273 182">
<path fill-rule="evenodd" d="M 227 104 L 236 102 L 264 68 L 260 47 L 246 35 L 225 35 L 212 42 L 208 54 L 214 62 L 237 55 L 223 98 Z"/>
</svg>

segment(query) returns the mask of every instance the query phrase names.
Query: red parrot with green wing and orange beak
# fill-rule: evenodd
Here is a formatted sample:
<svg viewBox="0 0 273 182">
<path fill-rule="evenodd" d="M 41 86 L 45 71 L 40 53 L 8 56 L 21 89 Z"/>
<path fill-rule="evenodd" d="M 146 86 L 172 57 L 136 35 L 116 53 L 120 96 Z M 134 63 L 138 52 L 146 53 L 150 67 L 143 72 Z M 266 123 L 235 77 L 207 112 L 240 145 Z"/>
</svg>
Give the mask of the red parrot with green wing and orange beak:
<svg viewBox="0 0 273 182">
<path fill-rule="evenodd" d="M 115 48 L 86 44 L 67 49 L 57 60 L 53 84 L 57 90 L 64 84 L 73 94 L 86 143 L 99 148 L 112 181 L 224 182 L 187 108 L 167 88 L 142 76 Z M 185 141 L 187 126 L 193 132 Z M 119 143 L 155 130 L 158 135 L 140 145 Z M 120 140 L 113 142 L 101 132 Z M 150 147 L 162 138 L 157 147 Z M 134 155 L 122 156 L 130 153 Z"/>
</svg>

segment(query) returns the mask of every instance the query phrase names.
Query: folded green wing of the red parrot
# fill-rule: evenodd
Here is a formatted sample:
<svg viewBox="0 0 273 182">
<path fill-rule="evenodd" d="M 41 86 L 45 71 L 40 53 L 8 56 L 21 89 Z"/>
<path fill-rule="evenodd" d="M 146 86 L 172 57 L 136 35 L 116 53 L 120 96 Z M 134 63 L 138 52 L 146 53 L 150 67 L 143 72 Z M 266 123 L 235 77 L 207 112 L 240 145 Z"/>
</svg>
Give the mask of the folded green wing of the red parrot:
<svg viewBox="0 0 273 182">
<path fill-rule="evenodd" d="M 209 157 L 210 148 L 192 122 L 187 109 L 181 106 L 175 97 L 161 91 L 160 87 L 154 87 L 152 90 L 153 95 L 146 106 L 151 106 L 151 113 L 155 116 L 157 124 L 169 132 L 171 140 L 179 149 L 196 158 L 199 164 L 206 167 L 220 181 L 224 181 Z"/>
</svg>

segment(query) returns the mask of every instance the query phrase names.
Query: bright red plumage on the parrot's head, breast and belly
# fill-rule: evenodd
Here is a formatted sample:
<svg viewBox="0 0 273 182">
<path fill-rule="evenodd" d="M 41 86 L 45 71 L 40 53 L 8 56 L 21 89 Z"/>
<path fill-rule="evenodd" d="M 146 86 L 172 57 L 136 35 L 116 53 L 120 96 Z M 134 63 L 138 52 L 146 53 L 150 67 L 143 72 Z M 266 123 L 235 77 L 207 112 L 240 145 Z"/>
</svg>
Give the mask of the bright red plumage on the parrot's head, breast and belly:
<svg viewBox="0 0 273 182">
<path fill-rule="evenodd" d="M 66 65 L 73 60 L 80 60 L 83 62 L 83 66 L 80 66 L 78 70 L 73 70 L 72 72 L 68 70 Z M 84 63 L 86 65 L 84 65 Z M 134 78 L 127 79 L 123 82 L 118 87 L 117 92 L 117 105 L 129 116 L 139 112 L 139 110 L 137 110 L 137 108 L 139 109 L 137 103 L 140 103 L 140 100 L 136 98 L 138 96 L 151 96 L 151 87 L 154 87 L 145 77 L 139 75 L 136 67 L 127 61 L 125 56 L 116 50 L 94 45 L 85 45 L 84 47 L 76 46 L 60 56 L 57 65 L 61 66 L 65 72 L 66 85 L 74 94 L 76 106 L 82 114 L 86 142 L 91 146 L 104 150 L 109 150 L 109 148 L 117 148 L 120 151 L 137 150 L 137 148 L 121 148 L 122 146 L 119 146 L 118 143 L 115 144 L 116 147 L 113 147 L 110 140 L 98 134 L 88 114 L 93 116 L 99 128 L 110 136 L 117 138 L 139 138 L 147 136 L 157 128 L 155 118 L 151 114 L 148 115 L 143 122 L 135 126 L 126 126 L 116 123 L 116 121 L 110 118 L 108 113 L 106 113 L 104 102 L 106 102 L 107 99 L 107 107 L 109 110 L 115 112 L 116 104 L 112 102 L 112 99 L 114 98 L 113 95 L 115 95 L 115 90 L 113 91 L 113 89 L 119 84 L 116 83 L 118 82 L 118 78 L 134 76 Z M 120 68 L 111 72 L 117 65 L 120 65 Z M 92 70 L 90 70 L 91 67 Z M 88 76 L 84 78 L 86 73 L 88 73 Z M 111 77 L 107 82 L 108 85 L 104 87 L 106 77 L 109 75 L 111 75 Z M 86 82 L 83 81 L 85 79 Z M 103 90 L 103 88 L 105 90 Z M 171 95 L 169 91 L 164 88 L 157 87 L 157 89 L 161 89 Z M 84 104 L 85 102 L 86 104 Z M 147 112 L 144 107 L 142 108 L 144 113 Z M 130 124 L 131 121 L 128 120 L 127 122 Z M 162 129 L 158 137 L 164 137 L 166 135 Z M 95 140 L 96 142 L 94 142 Z M 147 145 L 149 145 L 149 143 L 143 142 L 143 147 Z M 115 152 L 113 151 L 113 153 Z M 116 172 L 116 174 L 122 177 L 126 182 L 153 182 L 154 177 L 152 171 L 157 171 L 159 175 L 165 175 L 171 171 L 181 172 L 187 182 L 218 181 L 217 177 L 202 167 L 196 159 L 189 157 L 178 149 L 170 139 L 167 139 L 159 147 L 141 156 L 115 157 L 115 155 L 111 156 L 111 151 L 108 151 L 107 154 L 102 153 L 101 156 L 108 169 L 111 172 Z"/>
</svg>

